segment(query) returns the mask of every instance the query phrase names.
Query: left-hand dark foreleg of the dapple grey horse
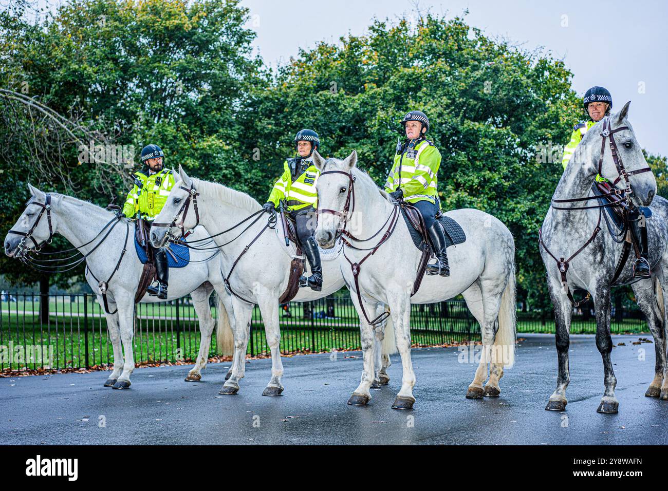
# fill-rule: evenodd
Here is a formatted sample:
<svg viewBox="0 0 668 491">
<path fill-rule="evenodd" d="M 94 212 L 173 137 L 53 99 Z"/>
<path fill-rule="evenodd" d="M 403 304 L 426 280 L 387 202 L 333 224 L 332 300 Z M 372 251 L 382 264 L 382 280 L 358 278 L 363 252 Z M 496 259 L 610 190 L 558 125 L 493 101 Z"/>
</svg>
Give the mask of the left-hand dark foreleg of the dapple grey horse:
<svg viewBox="0 0 668 491">
<path fill-rule="evenodd" d="M 554 307 L 554 341 L 556 344 L 556 355 L 558 359 L 558 372 L 556 375 L 556 389 L 550 395 L 545 409 L 548 411 L 563 411 L 566 409 L 566 388 L 570 383 L 570 369 L 568 368 L 568 348 L 570 347 L 570 317 L 572 306 L 566 293 L 566 285 L 548 276 L 548 291 Z"/>
</svg>

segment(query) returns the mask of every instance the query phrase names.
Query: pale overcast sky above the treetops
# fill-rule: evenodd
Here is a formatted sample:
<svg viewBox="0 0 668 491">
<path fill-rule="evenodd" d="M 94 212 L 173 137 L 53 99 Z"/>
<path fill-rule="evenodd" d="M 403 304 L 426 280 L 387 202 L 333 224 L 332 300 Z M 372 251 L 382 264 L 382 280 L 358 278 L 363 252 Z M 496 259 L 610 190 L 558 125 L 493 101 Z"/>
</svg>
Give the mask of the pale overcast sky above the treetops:
<svg viewBox="0 0 668 491">
<path fill-rule="evenodd" d="M 317 41 L 361 35 L 374 17 L 410 15 L 409 0 L 242 0 L 255 47 L 276 66 Z M 469 25 L 564 59 L 578 95 L 604 86 L 616 109 L 631 100 L 630 121 L 641 145 L 668 156 L 668 2 L 666 1 L 420 1 L 422 11 L 469 13 Z M 563 25 L 563 27 L 562 27 Z M 644 92 L 644 93 L 643 93 Z M 574 122 L 575 123 L 575 122 Z"/>
</svg>

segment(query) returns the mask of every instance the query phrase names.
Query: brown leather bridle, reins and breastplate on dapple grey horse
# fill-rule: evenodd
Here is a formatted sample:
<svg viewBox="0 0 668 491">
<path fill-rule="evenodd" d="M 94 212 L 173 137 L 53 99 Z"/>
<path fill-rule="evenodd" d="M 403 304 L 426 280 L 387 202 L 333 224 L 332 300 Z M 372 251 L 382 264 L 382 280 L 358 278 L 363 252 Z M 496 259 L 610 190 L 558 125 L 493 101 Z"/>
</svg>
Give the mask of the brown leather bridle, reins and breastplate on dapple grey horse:
<svg viewBox="0 0 668 491">
<path fill-rule="evenodd" d="M 632 170 L 631 172 L 627 171 L 624 162 L 621 159 L 621 156 L 619 155 L 619 152 L 617 151 L 617 142 L 615 142 L 615 137 L 613 136 L 617 132 L 621 132 L 623 130 L 629 130 L 628 126 L 620 126 L 619 128 L 615 128 L 615 130 L 611 129 L 612 123 L 610 122 L 610 116 L 605 118 L 603 120 L 603 130 L 601 130 L 601 155 L 599 156 L 599 164 L 598 164 L 598 171 L 599 171 L 599 176 L 601 175 L 601 171 L 603 170 L 603 156 L 605 155 L 605 142 L 606 139 L 609 138 L 609 143 L 610 143 L 610 151 L 613 155 L 613 162 L 615 162 L 615 168 L 617 169 L 617 179 L 615 179 L 612 182 L 612 187 L 613 190 L 607 193 L 603 194 L 598 194 L 595 196 L 585 196 L 585 198 L 568 198 L 568 199 L 562 199 L 562 200 L 555 200 L 552 198 L 552 208 L 555 210 L 589 210 L 593 208 L 599 208 L 599 221 L 596 224 L 596 227 L 594 228 L 594 232 L 591 234 L 587 242 L 580 247 L 574 254 L 572 254 L 568 259 L 565 259 L 564 257 L 560 259 L 556 259 L 556 256 L 552 254 L 549 249 L 546 247 L 545 242 L 542 239 L 542 227 L 538 229 L 538 245 L 539 247 L 542 246 L 543 249 L 545 249 L 546 253 L 556 261 L 556 265 L 558 267 L 559 273 L 561 275 L 561 282 L 562 285 L 564 285 L 564 288 L 566 288 L 566 295 L 568 295 L 568 299 L 574 305 L 574 307 L 579 307 L 580 304 L 585 303 L 586 301 L 589 300 L 591 295 L 589 292 L 587 292 L 587 296 L 580 300 L 580 301 L 575 301 L 573 298 L 572 293 L 570 293 L 570 288 L 568 288 L 568 281 L 566 281 L 566 272 L 568 271 L 568 266 L 570 261 L 574 257 L 576 257 L 578 254 L 580 254 L 582 251 L 585 250 L 585 248 L 593 242 L 593 240 L 596 238 L 597 234 L 601 231 L 601 215 L 603 214 L 603 209 L 607 206 L 619 206 L 619 204 L 625 204 L 625 207 L 628 209 L 631 206 L 633 206 L 633 202 L 631 202 L 631 194 L 633 194 L 633 189 L 631 189 L 631 182 L 629 181 L 629 176 L 633 176 L 635 174 L 641 174 L 643 172 L 651 172 L 650 167 L 645 167 L 637 170 Z M 624 180 L 625 184 L 625 189 L 619 189 L 617 188 L 617 183 L 620 182 L 621 180 Z M 621 194 L 624 193 L 624 198 L 621 198 Z M 617 195 L 619 196 L 619 202 L 617 203 L 606 203 L 606 204 L 599 204 L 596 206 L 572 206 L 572 207 L 564 207 L 564 206 L 554 206 L 553 203 L 574 203 L 574 202 L 580 202 L 580 201 L 589 201 L 589 200 L 597 200 L 599 198 L 607 198 L 608 196 L 613 196 Z M 606 219 L 607 220 L 607 219 Z M 619 277 L 619 274 L 621 273 L 621 266 L 619 265 L 617 267 L 617 271 L 615 271 L 615 277 L 613 278 L 613 283 Z"/>
</svg>

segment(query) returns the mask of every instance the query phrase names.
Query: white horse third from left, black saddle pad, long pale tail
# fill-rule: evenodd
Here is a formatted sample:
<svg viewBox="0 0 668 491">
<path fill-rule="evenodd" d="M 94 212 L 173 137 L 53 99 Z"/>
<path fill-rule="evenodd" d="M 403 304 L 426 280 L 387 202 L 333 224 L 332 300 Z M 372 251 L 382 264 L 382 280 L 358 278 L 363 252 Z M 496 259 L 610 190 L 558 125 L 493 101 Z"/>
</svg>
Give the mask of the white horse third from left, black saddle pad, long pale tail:
<svg viewBox="0 0 668 491">
<path fill-rule="evenodd" d="M 480 210 L 448 212 L 447 215 L 464 229 L 466 242 L 448 250 L 450 277 L 426 276 L 418 292 L 411 297 L 421 253 L 413 244 L 401 216 L 392 224 L 391 216 L 398 212 L 393 200 L 368 174 L 356 168 L 357 152 L 353 151 L 345 160 L 325 160 L 314 151 L 313 163 L 321 171 L 317 182 L 319 218 L 315 234 L 321 247 L 333 247 L 349 220 L 355 224 L 354 235 L 362 240 L 377 234 L 370 241 L 355 242 L 361 248 L 373 248 L 378 244 L 373 254 L 369 254 L 369 250 L 345 247 L 345 256 L 339 257 L 345 283 L 361 319 L 364 360 L 361 383 L 349 403 L 365 404 L 371 399 L 369 387 L 373 381 L 374 361 L 369 348 L 373 339 L 373 321 L 368 317 L 377 305 L 389 305 L 403 365 L 401 390 L 392 407 L 410 409 L 415 402 L 412 390 L 415 375 L 410 354 L 411 303 L 444 301 L 459 293 L 464 295 L 470 311 L 480 323 L 485 348 L 466 397 L 498 395 L 503 365 L 512 365 L 515 349 L 515 249 L 510 230 L 494 216 Z M 352 208 L 348 209 L 351 203 Z M 351 212 L 355 213 L 351 215 Z M 383 225 L 387 223 L 389 226 Z M 389 232 L 389 236 L 383 232 Z M 357 283 L 351 263 L 357 271 Z M 490 378 L 483 387 L 488 360 Z"/>
</svg>

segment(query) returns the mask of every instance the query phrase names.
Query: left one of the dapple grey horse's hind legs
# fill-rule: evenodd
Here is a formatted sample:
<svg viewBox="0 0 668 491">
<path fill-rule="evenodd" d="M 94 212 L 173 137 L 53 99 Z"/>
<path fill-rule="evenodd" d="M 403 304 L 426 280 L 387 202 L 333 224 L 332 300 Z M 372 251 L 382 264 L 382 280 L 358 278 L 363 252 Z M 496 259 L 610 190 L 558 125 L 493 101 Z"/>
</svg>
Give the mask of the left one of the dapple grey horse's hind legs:
<svg viewBox="0 0 668 491">
<path fill-rule="evenodd" d="M 647 285 L 650 283 L 650 285 Z M 659 397 L 661 395 L 661 383 L 663 382 L 663 370 L 665 369 L 665 349 L 663 333 L 663 292 L 658 279 L 654 281 L 639 281 L 631 285 L 635 294 L 636 303 L 647 319 L 647 326 L 654 337 L 656 350 L 654 379 L 647 387 L 645 396 Z"/>
</svg>

